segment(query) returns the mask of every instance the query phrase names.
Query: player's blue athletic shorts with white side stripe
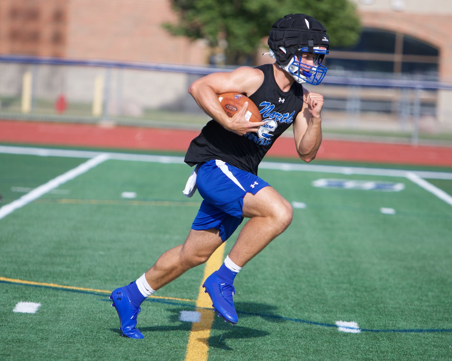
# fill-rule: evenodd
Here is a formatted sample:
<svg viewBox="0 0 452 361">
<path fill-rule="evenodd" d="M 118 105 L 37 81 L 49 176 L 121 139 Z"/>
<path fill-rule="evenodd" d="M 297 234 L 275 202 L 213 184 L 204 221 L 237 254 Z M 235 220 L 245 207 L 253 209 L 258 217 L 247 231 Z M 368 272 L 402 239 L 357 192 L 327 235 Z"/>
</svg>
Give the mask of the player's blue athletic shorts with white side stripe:
<svg viewBox="0 0 452 361">
<path fill-rule="evenodd" d="M 260 189 L 270 186 L 257 175 L 218 159 L 200 165 L 196 185 L 204 200 L 193 221 L 192 229 L 215 228 L 220 231 L 223 242 L 231 237 L 242 223 L 245 194 L 256 194 Z"/>
</svg>

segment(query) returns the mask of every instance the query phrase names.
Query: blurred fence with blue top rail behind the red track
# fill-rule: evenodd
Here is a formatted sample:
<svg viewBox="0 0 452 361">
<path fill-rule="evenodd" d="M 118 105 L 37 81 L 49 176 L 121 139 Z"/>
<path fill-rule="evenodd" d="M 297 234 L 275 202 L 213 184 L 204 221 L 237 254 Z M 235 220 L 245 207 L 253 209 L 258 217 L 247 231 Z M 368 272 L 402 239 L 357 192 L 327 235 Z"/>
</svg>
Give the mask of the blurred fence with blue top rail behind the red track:
<svg viewBox="0 0 452 361">
<path fill-rule="evenodd" d="M 0 117 L 199 128 L 205 118 L 188 85 L 233 69 L 0 56 Z M 378 129 L 384 120 L 392 131 L 410 132 L 416 144 L 422 120 L 447 127 L 452 118 L 450 83 L 328 75 L 308 88 L 326 99 L 327 127 Z"/>
</svg>

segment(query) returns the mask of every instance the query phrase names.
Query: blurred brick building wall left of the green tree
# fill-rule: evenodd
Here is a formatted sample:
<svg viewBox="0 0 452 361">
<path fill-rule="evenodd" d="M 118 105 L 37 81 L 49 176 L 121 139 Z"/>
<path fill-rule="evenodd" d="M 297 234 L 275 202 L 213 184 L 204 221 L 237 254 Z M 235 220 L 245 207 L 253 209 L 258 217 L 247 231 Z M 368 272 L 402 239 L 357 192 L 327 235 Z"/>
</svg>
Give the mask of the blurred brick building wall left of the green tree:
<svg viewBox="0 0 452 361">
<path fill-rule="evenodd" d="M 202 41 L 171 36 L 167 0 L 1 0 L 0 54 L 203 64 Z"/>
</svg>

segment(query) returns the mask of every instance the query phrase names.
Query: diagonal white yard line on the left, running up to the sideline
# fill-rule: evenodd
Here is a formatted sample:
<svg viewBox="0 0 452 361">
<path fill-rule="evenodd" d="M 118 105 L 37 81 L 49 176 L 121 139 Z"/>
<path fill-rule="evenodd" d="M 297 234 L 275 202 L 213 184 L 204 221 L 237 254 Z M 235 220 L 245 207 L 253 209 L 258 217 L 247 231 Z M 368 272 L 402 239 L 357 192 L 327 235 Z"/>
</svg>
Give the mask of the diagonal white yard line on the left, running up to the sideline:
<svg viewBox="0 0 452 361">
<path fill-rule="evenodd" d="M 15 211 L 16 209 L 21 208 L 30 202 L 33 202 L 42 195 L 46 194 L 47 192 L 50 192 L 52 189 L 58 188 L 59 186 L 61 186 L 61 184 L 66 183 L 67 181 L 74 179 L 80 174 L 87 172 L 89 169 L 94 168 L 95 166 L 104 162 L 107 159 L 108 153 L 97 153 L 97 155 L 94 158 L 89 159 L 85 163 L 80 164 L 78 167 L 75 167 L 74 169 L 71 169 L 70 171 L 64 174 L 61 174 L 58 177 L 53 178 L 52 180 L 48 181 L 45 184 L 42 184 L 38 188 L 33 189 L 31 192 L 24 194 L 19 199 L 16 199 L 11 203 L 6 204 L 5 206 L 0 208 L 0 220 L 2 218 L 5 218 L 5 216 L 8 216 L 11 212 Z"/>
</svg>

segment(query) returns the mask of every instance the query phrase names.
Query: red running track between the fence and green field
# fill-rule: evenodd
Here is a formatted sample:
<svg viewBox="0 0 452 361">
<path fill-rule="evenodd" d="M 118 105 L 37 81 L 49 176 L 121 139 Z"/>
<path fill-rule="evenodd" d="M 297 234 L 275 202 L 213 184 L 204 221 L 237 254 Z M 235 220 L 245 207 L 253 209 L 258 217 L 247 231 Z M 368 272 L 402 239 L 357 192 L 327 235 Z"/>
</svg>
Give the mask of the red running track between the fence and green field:
<svg viewBox="0 0 452 361">
<path fill-rule="evenodd" d="M 0 142 L 113 149 L 186 151 L 199 131 L 0 120 Z M 268 155 L 297 158 L 292 138 Z M 324 140 L 316 159 L 452 167 L 452 147 Z"/>
</svg>

